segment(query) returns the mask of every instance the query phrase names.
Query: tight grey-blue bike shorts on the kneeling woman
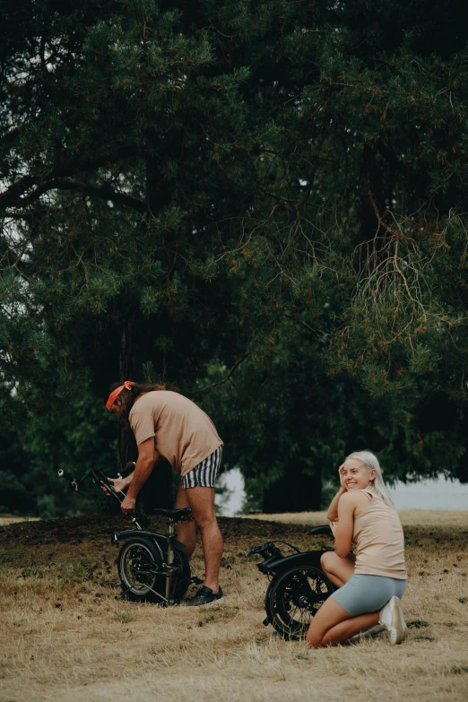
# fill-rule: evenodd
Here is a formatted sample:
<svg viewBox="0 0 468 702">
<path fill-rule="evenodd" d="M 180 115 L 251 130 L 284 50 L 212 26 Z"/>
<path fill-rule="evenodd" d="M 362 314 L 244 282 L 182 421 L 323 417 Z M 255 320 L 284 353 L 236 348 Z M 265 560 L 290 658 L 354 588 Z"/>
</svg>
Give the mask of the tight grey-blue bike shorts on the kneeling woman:
<svg viewBox="0 0 468 702">
<path fill-rule="evenodd" d="M 405 588 L 406 580 L 357 574 L 336 590 L 332 597 L 351 617 L 358 617 L 369 611 L 380 611 L 394 595 L 401 600 Z"/>
</svg>

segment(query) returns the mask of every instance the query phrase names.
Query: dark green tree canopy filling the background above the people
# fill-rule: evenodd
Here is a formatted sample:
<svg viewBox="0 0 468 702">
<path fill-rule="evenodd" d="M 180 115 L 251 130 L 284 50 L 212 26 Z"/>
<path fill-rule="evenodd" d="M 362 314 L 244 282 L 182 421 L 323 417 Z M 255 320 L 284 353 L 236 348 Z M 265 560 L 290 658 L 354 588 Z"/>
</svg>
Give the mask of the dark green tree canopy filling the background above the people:
<svg viewBox="0 0 468 702">
<path fill-rule="evenodd" d="M 465 480 L 459 4 L 0 11 L 5 407 L 79 420 L 83 388 L 155 375 L 256 496 L 291 464 L 319 496 L 357 438 Z"/>
</svg>

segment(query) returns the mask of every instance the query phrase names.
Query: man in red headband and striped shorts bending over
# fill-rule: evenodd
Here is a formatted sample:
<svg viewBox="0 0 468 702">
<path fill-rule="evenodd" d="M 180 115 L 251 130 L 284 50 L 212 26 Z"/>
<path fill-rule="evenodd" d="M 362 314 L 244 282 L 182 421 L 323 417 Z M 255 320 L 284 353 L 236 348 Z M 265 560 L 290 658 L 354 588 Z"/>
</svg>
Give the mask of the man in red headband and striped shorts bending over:
<svg viewBox="0 0 468 702">
<path fill-rule="evenodd" d="M 180 475 L 176 509 L 192 507 L 195 520 L 178 524 L 178 540 L 186 544 L 184 552 L 190 559 L 195 550 L 196 524 L 204 550 L 204 585 L 184 604 L 190 607 L 219 600 L 223 543 L 214 513 L 214 484 L 222 441 L 212 420 L 181 394 L 129 380 L 109 394 L 106 407 L 130 425 L 138 446 L 134 472 L 122 479 L 109 478 L 116 490 L 128 489 L 122 512 L 134 510 L 136 497 L 160 456 L 167 458 Z"/>
</svg>

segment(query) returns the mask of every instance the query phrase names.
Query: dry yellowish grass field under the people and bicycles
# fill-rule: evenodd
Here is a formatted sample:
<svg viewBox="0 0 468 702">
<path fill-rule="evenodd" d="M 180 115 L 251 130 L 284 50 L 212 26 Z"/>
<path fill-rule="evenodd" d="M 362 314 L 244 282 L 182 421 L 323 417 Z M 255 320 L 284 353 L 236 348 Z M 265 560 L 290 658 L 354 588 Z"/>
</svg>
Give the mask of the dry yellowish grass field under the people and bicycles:
<svg viewBox="0 0 468 702">
<path fill-rule="evenodd" d="M 403 606 L 420 624 L 402 646 L 320 651 L 264 628 L 267 580 L 246 556 L 274 538 L 326 542 L 303 525 L 322 513 L 290 520 L 221 518 L 225 597 L 193 610 L 116 599 L 117 516 L 0 525 L 1 702 L 466 700 L 468 512 L 403 513 Z"/>
</svg>

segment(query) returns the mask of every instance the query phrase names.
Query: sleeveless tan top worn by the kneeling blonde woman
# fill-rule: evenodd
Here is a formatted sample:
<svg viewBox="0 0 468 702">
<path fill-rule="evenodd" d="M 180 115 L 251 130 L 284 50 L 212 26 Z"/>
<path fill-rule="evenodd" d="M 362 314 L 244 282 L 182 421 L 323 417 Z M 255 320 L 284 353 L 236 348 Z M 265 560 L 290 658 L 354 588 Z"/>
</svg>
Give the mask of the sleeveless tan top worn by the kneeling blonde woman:
<svg viewBox="0 0 468 702">
<path fill-rule="evenodd" d="M 354 519 L 354 572 L 406 580 L 403 527 L 396 509 L 386 505 L 372 490 L 360 492 L 368 494 L 371 499 L 368 507 Z"/>
</svg>

